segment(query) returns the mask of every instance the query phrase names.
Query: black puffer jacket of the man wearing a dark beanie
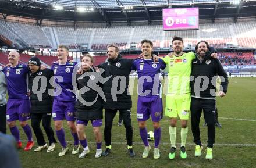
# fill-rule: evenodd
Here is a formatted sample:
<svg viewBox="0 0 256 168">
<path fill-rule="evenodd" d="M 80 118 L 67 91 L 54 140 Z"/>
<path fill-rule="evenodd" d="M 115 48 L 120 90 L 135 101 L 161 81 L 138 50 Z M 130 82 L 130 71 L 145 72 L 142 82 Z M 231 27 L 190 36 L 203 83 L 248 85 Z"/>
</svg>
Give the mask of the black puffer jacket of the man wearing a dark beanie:
<svg viewBox="0 0 256 168">
<path fill-rule="evenodd" d="M 41 76 L 40 80 L 34 80 L 35 77 Z M 50 96 L 49 89 L 52 89 L 52 85 L 49 83 L 51 77 L 54 76 L 54 72 L 50 69 L 38 70 L 35 73 L 29 72 L 29 90 L 30 90 L 30 102 L 31 102 L 31 113 L 51 113 L 52 112 L 52 96 Z M 33 92 L 33 81 L 34 87 L 37 91 L 44 90 L 42 93 L 42 101 L 38 99 L 38 95 Z M 38 83 L 36 82 L 38 81 Z"/>
</svg>

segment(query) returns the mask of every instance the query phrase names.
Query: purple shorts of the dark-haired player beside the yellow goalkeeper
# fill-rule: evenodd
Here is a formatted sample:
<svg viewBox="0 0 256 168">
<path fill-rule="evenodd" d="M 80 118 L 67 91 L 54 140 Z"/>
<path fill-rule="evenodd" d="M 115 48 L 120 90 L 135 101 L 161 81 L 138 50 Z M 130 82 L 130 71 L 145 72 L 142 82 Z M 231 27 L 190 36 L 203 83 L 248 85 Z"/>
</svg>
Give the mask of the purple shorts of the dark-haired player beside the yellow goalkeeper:
<svg viewBox="0 0 256 168">
<path fill-rule="evenodd" d="M 163 117 L 162 98 L 138 96 L 137 120 L 147 121 L 151 116 L 153 122 L 158 122 Z"/>
</svg>

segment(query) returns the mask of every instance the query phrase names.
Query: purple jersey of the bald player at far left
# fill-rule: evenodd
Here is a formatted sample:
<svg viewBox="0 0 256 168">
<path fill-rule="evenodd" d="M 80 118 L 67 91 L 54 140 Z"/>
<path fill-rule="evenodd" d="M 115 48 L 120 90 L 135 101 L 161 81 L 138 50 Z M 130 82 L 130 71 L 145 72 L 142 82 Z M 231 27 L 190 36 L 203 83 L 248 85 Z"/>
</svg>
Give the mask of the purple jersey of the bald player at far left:
<svg viewBox="0 0 256 168">
<path fill-rule="evenodd" d="M 7 81 L 9 99 L 29 99 L 27 96 L 27 65 L 18 64 L 15 67 L 5 67 L 3 69 Z"/>
</svg>

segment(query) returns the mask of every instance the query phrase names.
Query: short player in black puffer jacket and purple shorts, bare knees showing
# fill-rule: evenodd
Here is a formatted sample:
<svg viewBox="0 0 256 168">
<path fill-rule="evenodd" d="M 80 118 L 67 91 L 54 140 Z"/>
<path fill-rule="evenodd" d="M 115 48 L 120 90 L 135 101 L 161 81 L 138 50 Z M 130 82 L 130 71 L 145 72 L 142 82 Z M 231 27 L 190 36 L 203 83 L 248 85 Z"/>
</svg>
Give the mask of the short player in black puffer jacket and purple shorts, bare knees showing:
<svg viewBox="0 0 256 168">
<path fill-rule="evenodd" d="M 83 68 L 83 74 L 76 76 L 76 83 L 78 89 L 77 101 L 76 101 L 76 124 L 77 134 L 80 144 L 83 146 L 83 152 L 79 155 L 79 158 L 84 158 L 89 152 L 87 145 L 87 138 L 84 134 L 84 126 L 87 126 L 88 122 L 91 121 L 93 126 L 93 132 L 96 141 L 96 153 L 95 158 L 101 157 L 102 149 L 102 134 L 100 127 L 102 126 L 102 98 L 98 94 L 97 87 L 100 80 L 99 72 L 92 67 L 93 57 L 89 54 L 83 55 L 81 59 L 81 67 Z"/>
</svg>

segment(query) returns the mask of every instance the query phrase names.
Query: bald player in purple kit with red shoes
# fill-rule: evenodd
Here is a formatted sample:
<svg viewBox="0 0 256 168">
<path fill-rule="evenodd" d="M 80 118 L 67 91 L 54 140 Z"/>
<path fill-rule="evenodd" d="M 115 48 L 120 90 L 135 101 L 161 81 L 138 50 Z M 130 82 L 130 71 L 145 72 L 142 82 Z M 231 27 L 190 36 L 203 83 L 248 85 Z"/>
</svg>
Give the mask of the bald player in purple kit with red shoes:
<svg viewBox="0 0 256 168">
<path fill-rule="evenodd" d="M 30 100 L 27 96 L 27 72 L 29 70 L 26 65 L 19 63 L 20 55 L 17 51 L 11 51 L 8 59 L 10 66 L 3 69 L 9 95 L 6 108 L 7 124 L 10 132 L 16 138 L 17 147 L 22 148 L 20 133 L 16 126 L 16 120 L 20 121 L 20 126 L 22 126 L 28 140 L 24 151 L 29 151 L 34 145 L 32 131 L 27 124 L 27 120 L 30 119 Z"/>
</svg>

